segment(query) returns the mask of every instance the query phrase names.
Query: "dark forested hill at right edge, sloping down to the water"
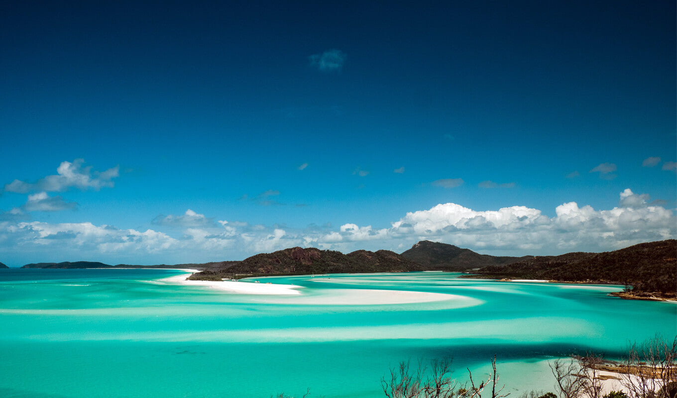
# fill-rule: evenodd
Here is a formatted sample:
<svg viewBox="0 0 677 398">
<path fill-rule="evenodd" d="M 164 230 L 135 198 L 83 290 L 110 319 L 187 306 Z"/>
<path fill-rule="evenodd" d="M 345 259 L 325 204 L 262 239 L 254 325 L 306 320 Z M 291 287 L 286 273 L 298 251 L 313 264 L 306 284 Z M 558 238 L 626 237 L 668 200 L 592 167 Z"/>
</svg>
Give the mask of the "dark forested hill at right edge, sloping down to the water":
<svg viewBox="0 0 677 398">
<path fill-rule="evenodd" d="M 494 278 L 544 279 L 633 285 L 638 292 L 677 291 L 677 240 L 640 243 L 603 253 L 533 257 L 476 271 Z"/>
</svg>

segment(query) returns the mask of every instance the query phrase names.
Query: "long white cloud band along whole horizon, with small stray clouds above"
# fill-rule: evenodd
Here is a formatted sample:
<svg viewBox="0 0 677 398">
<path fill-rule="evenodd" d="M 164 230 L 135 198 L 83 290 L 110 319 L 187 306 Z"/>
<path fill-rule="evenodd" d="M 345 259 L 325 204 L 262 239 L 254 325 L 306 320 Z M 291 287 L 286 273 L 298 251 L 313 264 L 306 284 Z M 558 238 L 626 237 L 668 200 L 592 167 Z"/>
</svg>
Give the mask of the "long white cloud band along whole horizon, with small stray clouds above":
<svg viewBox="0 0 677 398">
<path fill-rule="evenodd" d="M 112 186 L 112 177 L 118 175 L 117 168 L 114 172 L 109 169 L 104 173 L 92 173 L 90 167 L 83 169 L 81 164 L 79 160 L 62 162 L 58 176 L 48 176 L 32 184 L 9 185 L 38 190 L 49 186 L 51 191 L 68 187 L 87 189 Z M 52 179 L 58 183 L 49 181 Z M 458 180 L 435 181 L 435 185 L 458 187 L 462 183 Z M 484 185 L 498 186 L 495 183 Z M 266 201 L 279 194 L 269 190 L 259 194 L 257 200 Z M 152 219 L 152 228 L 141 230 L 91 222 L 26 220 L 29 215 L 24 212 L 62 211 L 75 206 L 60 196 L 49 197 L 46 192 L 39 192 L 28 195 L 22 208 L 0 214 L 0 255 L 13 257 L 17 253 L 30 253 L 30 261 L 86 258 L 112 263 L 182 263 L 244 259 L 259 252 L 292 246 L 315 246 L 343 252 L 361 248 L 403 251 L 419 240 L 455 244 L 483 253 L 556 255 L 580 250 L 596 252 L 677 236 L 674 211 L 650 200 L 648 194 L 636 194 L 627 188 L 619 194 L 618 205 L 611 209 L 595 210 L 589 205 L 565 202 L 555 208 L 554 217 L 527 206 L 476 211 L 447 202 L 408 212 L 399 220 L 391 221 L 389 227 L 346 222 L 338 228 L 330 225 L 305 228 L 253 225 L 246 221 L 222 220 L 218 215 L 207 217 L 188 209 L 181 215 L 158 215 Z"/>
</svg>

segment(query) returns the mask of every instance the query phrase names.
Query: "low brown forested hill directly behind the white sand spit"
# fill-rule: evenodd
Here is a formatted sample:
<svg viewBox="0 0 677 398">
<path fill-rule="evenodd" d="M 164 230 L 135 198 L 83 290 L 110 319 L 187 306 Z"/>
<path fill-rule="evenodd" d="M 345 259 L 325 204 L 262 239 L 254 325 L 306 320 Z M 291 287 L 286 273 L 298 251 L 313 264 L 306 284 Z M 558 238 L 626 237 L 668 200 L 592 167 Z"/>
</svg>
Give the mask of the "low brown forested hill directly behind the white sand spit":
<svg viewBox="0 0 677 398">
<path fill-rule="evenodd" d="M 190 279 L 220 280 L 231 275 L 309 275 L 422 270 L 418 263 L 389 250 L 376 252 L 357 250 L 344 255 L 333 250 L 294 247 L 255 255 L 219 271 L 196 273 Z"/>
</svg>

